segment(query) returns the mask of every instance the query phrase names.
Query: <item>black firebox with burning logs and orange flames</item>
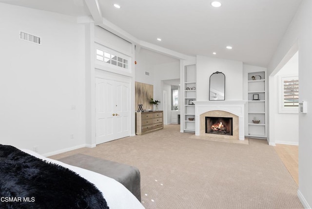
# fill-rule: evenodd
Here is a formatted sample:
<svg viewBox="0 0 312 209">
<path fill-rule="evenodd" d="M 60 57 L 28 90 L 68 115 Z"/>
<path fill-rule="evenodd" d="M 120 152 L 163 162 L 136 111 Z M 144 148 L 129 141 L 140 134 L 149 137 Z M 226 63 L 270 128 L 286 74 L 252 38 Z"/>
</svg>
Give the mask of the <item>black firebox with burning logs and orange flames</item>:
<svg viewBox="0 0 312 209">
<path fill-rule="evenodd" d="M 233 136 L 233 118 L 205 117 L 205 132 Z"/>
</svg>

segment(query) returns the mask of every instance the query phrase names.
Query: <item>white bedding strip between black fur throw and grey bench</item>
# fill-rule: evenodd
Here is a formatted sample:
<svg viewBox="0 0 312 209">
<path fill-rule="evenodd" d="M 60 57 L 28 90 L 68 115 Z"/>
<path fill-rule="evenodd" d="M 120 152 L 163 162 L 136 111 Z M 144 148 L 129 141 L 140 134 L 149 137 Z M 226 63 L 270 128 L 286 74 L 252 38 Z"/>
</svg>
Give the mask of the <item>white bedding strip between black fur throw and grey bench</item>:
<svg viewBox="0 0 312 209">
<path fill-rule="evenodd" d="M 93 183 L 102 193 L 110 209 L 144 209 L 137 198 L 122 184 L 115 179 L 86 170 L 80 167 L 71 166 L 57 160 L 43 157 L 36 152 L 28 149 L 21 149 L 30 155 L 45 160 L 47 162 L 55 163 L 63 167 L 67 167 L 78 173 L 81 177 Z"/>
</svg>

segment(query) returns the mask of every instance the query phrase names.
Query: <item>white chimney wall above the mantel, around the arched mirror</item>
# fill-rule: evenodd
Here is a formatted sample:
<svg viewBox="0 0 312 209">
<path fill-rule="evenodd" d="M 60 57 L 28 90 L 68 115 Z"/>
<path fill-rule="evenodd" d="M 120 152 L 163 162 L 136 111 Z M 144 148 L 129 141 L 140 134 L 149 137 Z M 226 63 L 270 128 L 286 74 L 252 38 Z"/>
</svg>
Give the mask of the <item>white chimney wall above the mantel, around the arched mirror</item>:
<svg viewBox="0 0 312 209">
<path fill-rule="evenodd" d="M 209 100 L 209 78 L 216 72 L 225 75 L 225 100 L 243 99 L 243 63 L 211 57 L 196 57 L 197 101 Z"/>
</svg>

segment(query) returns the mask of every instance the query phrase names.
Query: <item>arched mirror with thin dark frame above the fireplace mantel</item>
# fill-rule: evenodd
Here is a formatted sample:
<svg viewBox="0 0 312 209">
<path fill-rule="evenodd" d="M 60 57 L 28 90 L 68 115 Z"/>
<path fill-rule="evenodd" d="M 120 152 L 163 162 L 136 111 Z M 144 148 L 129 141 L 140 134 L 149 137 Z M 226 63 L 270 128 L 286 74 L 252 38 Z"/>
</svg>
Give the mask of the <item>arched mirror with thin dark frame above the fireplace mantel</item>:
<svg viewBox="0 0 312 209">
<path fill-rule="evenodd" d="M 216 71 L 210 76 L 209 100 L 224 100 L 225 75 Z"/>
</svg>

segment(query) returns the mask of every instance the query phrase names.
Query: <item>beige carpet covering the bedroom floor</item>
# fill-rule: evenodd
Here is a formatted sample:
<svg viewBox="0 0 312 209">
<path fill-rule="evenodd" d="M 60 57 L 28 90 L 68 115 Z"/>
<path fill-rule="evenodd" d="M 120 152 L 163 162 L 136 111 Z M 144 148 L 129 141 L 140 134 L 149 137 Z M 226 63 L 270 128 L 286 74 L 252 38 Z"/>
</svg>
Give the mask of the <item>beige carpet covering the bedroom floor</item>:
<svg viewBox="0 0 312 209">
<path fill-rule="evenodd" d="M 179 125 L 51 156 L 83 153 L 141 172 L 146 209 L 294 209 L 302 208 L 297 185 L 272 146 L 194 139 Z"/>
</svg>

